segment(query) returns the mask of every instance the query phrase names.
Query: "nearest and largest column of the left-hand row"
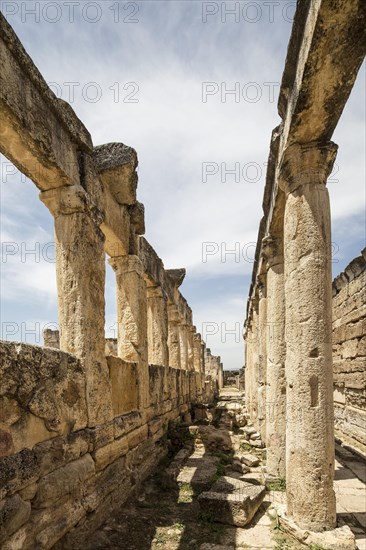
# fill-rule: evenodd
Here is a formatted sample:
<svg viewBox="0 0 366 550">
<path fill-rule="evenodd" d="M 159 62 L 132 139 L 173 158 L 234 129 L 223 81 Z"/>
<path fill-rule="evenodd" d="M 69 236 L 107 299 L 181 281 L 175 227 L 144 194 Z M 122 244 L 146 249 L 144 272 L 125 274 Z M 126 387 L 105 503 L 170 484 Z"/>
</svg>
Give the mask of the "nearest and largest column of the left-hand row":
<svg viewBox="0 0 366 550">
<path fill-rule="evenodd" d="M 87 207 L 79 185 L 40 193 L 55 218 L 56 280 L 60 349 L 85 367 L 88 424 L 112 418 L 104 339 L 104 236 L 101 217 Z"/>
</svg>

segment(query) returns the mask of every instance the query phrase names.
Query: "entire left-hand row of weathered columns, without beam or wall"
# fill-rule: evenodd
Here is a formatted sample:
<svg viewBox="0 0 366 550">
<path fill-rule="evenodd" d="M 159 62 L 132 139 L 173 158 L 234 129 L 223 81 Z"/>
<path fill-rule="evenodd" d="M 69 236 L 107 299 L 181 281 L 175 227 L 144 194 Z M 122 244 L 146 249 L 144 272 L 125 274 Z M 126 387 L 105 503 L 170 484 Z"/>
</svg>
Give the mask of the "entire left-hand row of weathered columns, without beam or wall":
<svg viewBox="0 0 366 550">
<path fill-rule="evenodd" d="M 87 193 L 79 185 L 45 191 L 40 198 L 55 220 L 60 348 L 83 360 L 88 422 L 95 426 L 112 418 L 105 357 L 102 217 L 88 207 Z M 148 365 L 203 372 L 201 337 L 188 316 L 168 303 L 162 287 L 148 279 L 136 254 L 111 257 L 109 264 L 116 276 L 117 354 L 137 363 L 139 402 L 144 408 Z"/>
</svg>

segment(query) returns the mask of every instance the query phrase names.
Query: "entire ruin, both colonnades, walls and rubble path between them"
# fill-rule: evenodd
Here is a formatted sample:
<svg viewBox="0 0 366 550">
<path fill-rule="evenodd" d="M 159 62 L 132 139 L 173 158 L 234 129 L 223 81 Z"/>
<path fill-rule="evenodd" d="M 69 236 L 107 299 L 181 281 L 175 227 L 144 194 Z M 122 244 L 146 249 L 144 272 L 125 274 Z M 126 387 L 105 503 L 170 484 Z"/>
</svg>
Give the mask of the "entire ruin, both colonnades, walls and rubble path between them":
<svg viewBox="0 0 366 550">
<path fill-rule="evenodd" d="M 143 237 L 136 151 L 94 147 L 2 15 L 0 31 L 0 150 L 54 217 L 60 326 L 45 332 L 43 347 L 0 343 L 1 548 L 124 548 L 108 538 L 108 522 L 171 445 L 180 450 L 162 485 L 178 488 L 177 503 L 199 503 L 203 518 L 237 531 L 225 546 L 207 529 L 209 542 L 166 548 L 274 548 L 274 521 L 293 548 L 354 549 L 349 527 L 337 528 L 335 436 L 366 450 L 366 252 L 332 291 L 326 182 L 337 154 L 330 140 L 365 56 L 366 3 L 298 1 L 245 369 L 227 375 L 235 387 L 226 392 L 221 358 L 179 290 L 185 270 L 165 269 Z M 116 340 L 104 332 L 106 256 L 116 277 Z M 281 502 L 266 501 L 270 484 L 284 480 Z M 191 500 L 182 496 L 191 490 Z M 266 529 L 261 546 L 254 517 Z"/>
</svg>

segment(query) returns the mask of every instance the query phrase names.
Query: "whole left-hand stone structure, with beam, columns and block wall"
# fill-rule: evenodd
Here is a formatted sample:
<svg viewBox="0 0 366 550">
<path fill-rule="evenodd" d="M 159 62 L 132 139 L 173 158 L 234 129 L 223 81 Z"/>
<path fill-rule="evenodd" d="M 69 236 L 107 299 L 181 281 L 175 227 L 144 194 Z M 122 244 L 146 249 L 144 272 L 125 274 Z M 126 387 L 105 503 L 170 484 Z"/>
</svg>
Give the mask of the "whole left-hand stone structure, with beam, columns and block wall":
<svg viewBox="0 0 366 550">
<path fill-rule="evenodd" d="M 51 548 L 128 498 L 165 456 L 169 423 L 214 400 L 222 363 L 179 291 L 185 270 L 166 270 L 142 237 L 136 151 L 93 147 L 2 15 L 0 63 L 0 149 L 54 216 L 60 326 L 43 348 L 0 343 L 0 546 Z M 106 254 L 116 341 L 104 335 Z"/>
</svg>

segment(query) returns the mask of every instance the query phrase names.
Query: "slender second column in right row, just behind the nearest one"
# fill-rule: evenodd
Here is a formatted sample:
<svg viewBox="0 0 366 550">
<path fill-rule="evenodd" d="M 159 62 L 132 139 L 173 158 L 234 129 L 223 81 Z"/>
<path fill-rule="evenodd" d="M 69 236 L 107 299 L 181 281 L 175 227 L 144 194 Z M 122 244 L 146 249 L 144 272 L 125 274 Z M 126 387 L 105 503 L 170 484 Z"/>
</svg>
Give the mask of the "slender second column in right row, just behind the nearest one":
<svg viewBox="0 0 366 550">
<path fill-rule="evenodd" d="M 285 379 L 285 292 L 283 246 L 266 237 L 263 251 L 267 261 L 267 384 L 266 448 L 267 473 L 286 475 L 286 379 Z"/>
</svg>

